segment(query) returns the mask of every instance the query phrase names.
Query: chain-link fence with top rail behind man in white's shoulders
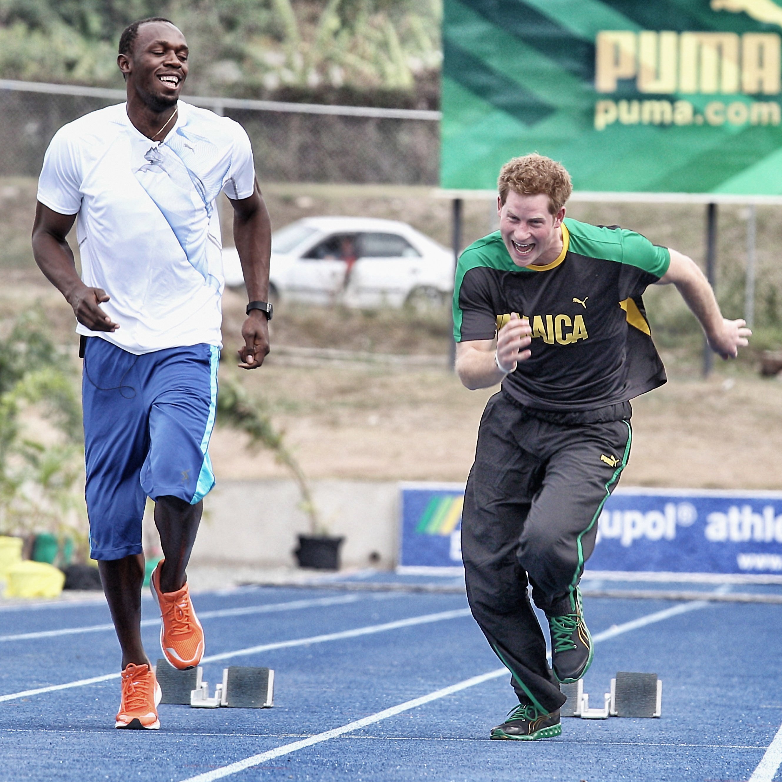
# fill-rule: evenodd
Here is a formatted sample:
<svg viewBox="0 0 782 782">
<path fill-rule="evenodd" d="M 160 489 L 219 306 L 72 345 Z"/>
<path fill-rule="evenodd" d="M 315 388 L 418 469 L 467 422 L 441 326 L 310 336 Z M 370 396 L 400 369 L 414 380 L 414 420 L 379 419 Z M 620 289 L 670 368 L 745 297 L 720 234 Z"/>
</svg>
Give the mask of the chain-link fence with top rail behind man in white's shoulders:
<svg viewBox="0 0 782 782">
<path fill-rule="evenodd" d="M 0 81 L 0 176 L 38 176 L 59 127 L 120 90 Z M 249 134 L 262 181 L 436 185 L 439 113 L 186 97 Z"/>
</svg>

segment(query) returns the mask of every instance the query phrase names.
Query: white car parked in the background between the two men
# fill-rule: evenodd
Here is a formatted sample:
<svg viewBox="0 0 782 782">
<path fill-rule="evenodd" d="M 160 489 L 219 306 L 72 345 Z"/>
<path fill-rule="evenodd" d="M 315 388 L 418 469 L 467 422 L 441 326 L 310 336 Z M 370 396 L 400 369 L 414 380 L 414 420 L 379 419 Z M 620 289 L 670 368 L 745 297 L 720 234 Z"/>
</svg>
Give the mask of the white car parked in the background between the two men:
<svg viewBox="0 0 782 782">
<path fill-rule="evenodd" d="M 223 250 L 223 267 L 226 285 L 244 285 L 235 248 Z M 271 238 L 271 300 L 425 308 L 453 289 L 454 254 L 406 223 L 305 217 Z"/>
</svg>

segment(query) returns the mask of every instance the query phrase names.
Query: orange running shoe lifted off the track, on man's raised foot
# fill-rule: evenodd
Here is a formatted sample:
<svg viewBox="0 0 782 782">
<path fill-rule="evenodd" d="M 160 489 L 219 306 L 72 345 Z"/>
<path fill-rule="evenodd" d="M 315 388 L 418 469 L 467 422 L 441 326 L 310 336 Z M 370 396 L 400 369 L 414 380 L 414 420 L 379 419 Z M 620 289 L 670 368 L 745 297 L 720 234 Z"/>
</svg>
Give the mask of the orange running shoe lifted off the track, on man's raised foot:
<svg viewBox="0 0 782 782">
<path fill-rule="evenodd" d="M 152 597 L 160 608 L 160 619 L 163 620 L 160 626 L 160 648 L 174 668 L 192 668 L 203 657 L 203 627 L 193 610 L 187 584 L 176 592 L 160 591 L 161 565 L 162 559 L 149 579 Z"/>
</svg>

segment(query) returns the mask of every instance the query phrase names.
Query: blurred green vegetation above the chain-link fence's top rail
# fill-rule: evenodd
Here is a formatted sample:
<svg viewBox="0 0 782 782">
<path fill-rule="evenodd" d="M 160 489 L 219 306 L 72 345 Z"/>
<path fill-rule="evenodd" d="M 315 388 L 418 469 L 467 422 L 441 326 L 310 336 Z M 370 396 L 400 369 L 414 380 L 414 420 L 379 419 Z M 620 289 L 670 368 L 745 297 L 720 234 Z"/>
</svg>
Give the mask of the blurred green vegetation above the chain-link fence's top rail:
<svg viewBox="0 0 782 782">
<path fill-rule="evenodd" d="M 165 16 L 195 54 L 191 93 L 428 104 L 440 13 L 439 0 L 0 0 L 0 74 L 120 86 L 120 32 Z"/>
</svg>

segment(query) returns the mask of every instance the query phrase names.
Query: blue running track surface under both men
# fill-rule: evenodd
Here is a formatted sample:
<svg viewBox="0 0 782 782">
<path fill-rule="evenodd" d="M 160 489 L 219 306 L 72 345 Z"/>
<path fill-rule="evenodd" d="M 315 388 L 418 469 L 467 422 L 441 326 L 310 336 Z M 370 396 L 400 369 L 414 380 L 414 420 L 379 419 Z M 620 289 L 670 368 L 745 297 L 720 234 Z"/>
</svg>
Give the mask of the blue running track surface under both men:
<svg viewBox="0 0 782 782">
<path fill-rule="evenodd" d="M 106 606 L 0 608 L 0 779 L 782 780 L 774 755 L 782 741 L 773 743 L 782 723 L 780 605 L 587 598 L 587 622 L 602 640 L 584 690 L 597 705 L 617 671 L 658 673 L 662 719 L 563 719 L 560 738 L 536 742 L 488 740 L 515 699 L 464 595 L 258 587 L 200 594 L 195 607 L 210 689 L 226 665 L 265 665 L 276 673 L 274 708 L 162 705 L 159 731 L 114 730 L 118 677 L 29 692 L 116 675 L 113 630 L 9 638 L 106 626 Z M 144 610 L 154 661 L 151 600 Z M 651 623 L 626 625 L 644 617 Z M 228 656 L 270 644 L 278 647 Z M 225 657 L 208 662 L 213 655 Z M 431 699 L 378 715 L 423 696 Z M 355 730 L 318 735 L 368 717 Z M 248 768 L 231 766 L 249 758 Z"/>
</svg>

